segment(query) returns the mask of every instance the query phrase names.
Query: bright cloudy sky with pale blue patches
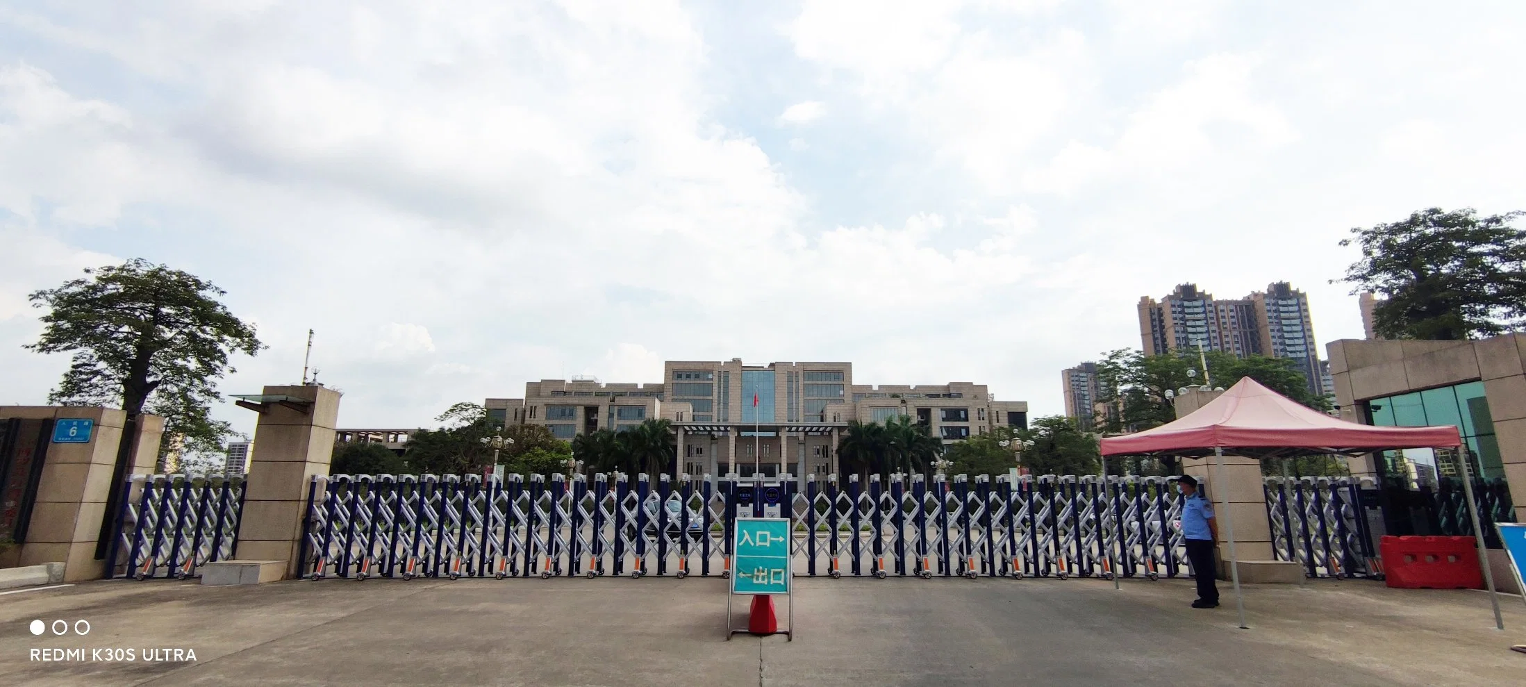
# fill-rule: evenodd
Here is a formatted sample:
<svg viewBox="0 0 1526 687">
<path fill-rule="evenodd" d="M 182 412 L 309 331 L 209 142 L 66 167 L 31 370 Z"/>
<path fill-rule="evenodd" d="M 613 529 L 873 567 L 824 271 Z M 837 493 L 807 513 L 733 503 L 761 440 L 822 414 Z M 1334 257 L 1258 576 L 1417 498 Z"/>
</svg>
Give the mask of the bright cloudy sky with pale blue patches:
<svg viewBox="0 0 1526 687">
<path fill-rule="evenodd" d="M 0 3 L 0 403 L 26 295 L 215 281 L 345 426 L 667 359 L 852 360 L 1061 411 L 1134 304 L 1291 281 L 1352 226 L 1526 206 L 1520 3 Z M 221 417 L 249 429 L 232 405 Z"/>
</svg>

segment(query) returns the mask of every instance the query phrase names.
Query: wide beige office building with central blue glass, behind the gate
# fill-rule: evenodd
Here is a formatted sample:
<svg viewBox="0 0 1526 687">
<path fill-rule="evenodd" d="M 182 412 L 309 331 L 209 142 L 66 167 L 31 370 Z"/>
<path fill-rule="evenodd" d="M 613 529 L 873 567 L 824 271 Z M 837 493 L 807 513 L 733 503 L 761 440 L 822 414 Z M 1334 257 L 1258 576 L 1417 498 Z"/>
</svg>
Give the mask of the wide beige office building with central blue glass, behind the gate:
<svg viewBox="0 0 1526 687">
<path fill-rule="evenodd" d="M 905 415 L 945 443 L 1027 427 L 1025 402 L 998 402 L 986 385 L 855 385 L 853 363 L 745 365 L 684 360 L 662 366 L 661 383 L 601 383 L 592 377 L 525 385 L 523 398 L 487 398 L 488 418 L 545 424 L 572 440 L 603 427 L 624 431 L 665 418 L 690 475 L 836 473 L 848 421 Z"/>
</svg>

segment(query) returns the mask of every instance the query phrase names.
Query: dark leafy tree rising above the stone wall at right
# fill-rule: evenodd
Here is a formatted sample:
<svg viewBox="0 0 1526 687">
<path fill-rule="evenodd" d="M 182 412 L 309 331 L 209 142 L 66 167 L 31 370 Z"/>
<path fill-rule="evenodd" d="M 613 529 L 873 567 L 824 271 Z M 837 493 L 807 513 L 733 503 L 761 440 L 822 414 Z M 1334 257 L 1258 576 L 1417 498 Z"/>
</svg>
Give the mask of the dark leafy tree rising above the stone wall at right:
<svg viewBox="0 0 1526 687">
<path fill-rule="evenodd" d="M 1373 330 L 1389 339 L 1474 339 L 1526 324 L 1526 231 L 1521 212 L 1479 217 L 1473 208 L 1428 208 L 1352 229 L 1361 260 L 1343 279 L 1386 298 Z"/>
</svg>

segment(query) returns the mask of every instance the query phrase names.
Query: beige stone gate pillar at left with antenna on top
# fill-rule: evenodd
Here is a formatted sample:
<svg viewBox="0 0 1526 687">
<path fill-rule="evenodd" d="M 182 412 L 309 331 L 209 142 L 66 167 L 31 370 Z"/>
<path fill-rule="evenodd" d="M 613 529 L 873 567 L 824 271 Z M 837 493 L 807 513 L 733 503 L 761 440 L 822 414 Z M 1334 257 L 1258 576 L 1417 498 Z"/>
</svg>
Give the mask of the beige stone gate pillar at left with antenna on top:
<svg viewBox="0 0 1526 687">
<path fill-rule="evenodd" d="M 285 560 L 285 577 L 301 574 L 298 543 L 313 475 L 328 475 L 339 421 L 339 392 L 327 386 L 266 386 L 235 395 L 259 414 L 255 424 L 244 511 L 238 524 L 241 560 Z"/>
</svg>

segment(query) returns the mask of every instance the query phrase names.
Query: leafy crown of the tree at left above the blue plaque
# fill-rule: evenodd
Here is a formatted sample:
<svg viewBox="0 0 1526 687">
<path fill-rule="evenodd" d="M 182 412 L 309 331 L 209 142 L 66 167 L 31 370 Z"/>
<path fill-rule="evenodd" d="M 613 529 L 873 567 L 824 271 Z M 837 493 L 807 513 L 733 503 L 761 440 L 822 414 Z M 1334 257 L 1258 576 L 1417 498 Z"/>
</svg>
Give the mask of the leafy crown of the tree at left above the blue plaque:
<svg viewBox="0 0 1526 687">
<path fill-rule="evenodd" d="M 227 292 L 188 272 L 130 260 L 84 273 L 29 296 L 47 313 L 26 348 L 72 354 L 49 403 L 153 412 L 165 418 L 162 452 L 220 450 L 235 432 L 211 417 L 217 380 L 233 373 L 232 354 L 259 353 L 255 327 L 218 301 Z"/>
</svg>

